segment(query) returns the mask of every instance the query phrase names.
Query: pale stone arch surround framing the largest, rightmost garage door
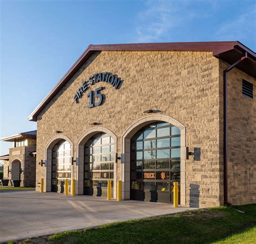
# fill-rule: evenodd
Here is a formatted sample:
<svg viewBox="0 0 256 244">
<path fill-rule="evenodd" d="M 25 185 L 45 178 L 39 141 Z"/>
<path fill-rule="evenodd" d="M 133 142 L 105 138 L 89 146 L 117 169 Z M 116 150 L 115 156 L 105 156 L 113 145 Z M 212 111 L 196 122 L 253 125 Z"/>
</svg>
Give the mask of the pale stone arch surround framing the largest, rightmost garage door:
<svg viewBox="0 0 256 244">
<path fill-rule="evenodd" d="M 150 115 L 140 118 L 122 135 L 122 199 L 130 199 L 131 138 L 139 129 L 157 121 L 170 123 L 180 129 L 180 205 L 185 206 L 186 127 L 178 120 L 166 115 Z"/>
</svg>

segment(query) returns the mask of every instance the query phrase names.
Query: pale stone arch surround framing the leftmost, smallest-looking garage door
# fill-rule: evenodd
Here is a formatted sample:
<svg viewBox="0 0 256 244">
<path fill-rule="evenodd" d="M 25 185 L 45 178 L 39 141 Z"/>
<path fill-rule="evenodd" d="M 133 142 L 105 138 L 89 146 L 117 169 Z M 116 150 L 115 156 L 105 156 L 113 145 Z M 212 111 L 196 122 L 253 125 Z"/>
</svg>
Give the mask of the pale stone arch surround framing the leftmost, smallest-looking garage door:
<svg viewBox="0 0 256 244">
<path fill-rule="evenodd" d="M 73 157 L 74 153 L 74 144 L 70 140 L 68 136 L 65 135 L 57 135 L 47 143 L 45 148 L 45 184 L 44 184 L 44 192 L 51 191 L 51 164 L 52 164 L 52 148 L 56 145 L 56 143 L 60 140 L 68 141 L 71 145 L 71 157 Z M 73 169 L 71 166 L 71 178 L 73 178 Z"/>
</svg>

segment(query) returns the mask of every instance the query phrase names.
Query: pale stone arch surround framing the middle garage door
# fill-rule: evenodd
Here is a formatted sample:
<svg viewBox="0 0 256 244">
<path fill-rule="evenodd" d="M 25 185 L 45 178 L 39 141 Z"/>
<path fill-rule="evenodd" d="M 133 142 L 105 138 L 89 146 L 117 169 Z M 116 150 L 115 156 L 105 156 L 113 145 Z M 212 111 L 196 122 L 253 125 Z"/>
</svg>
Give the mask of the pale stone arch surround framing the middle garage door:
<svg viewBox="0 0 256 244">
<path fill-rule="evenodd" d="M 80 136 L 77 142 L 77 158 L 76 158 L 76 194 L 84 194 L 84 145 L 85 143 L 97 133 L 106 133 L 114 140 L 114 154 L 117 154 L 117 136 L 109 129 L 105 127 L 95 127 L 87 130 L 82 136 Z M 113 179 L 113 196 L 116 197 L 117 191 L 117 164 L 114 164 L 114 179 Z"/>
</svg>

